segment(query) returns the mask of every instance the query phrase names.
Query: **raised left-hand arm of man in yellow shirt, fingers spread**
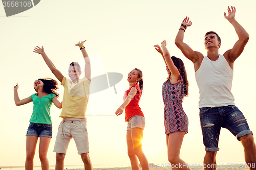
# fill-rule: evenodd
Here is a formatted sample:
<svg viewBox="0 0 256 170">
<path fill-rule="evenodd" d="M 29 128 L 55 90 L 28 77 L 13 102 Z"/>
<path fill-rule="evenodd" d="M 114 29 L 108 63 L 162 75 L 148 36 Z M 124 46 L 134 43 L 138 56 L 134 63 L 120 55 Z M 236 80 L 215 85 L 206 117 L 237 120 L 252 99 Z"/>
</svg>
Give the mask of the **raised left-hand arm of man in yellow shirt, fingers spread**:
<svg viewBox="0 0 256 170">
<path fill-rule="evenodd" d="M 42 58 L 45 60 L 47 66 L 51 69 L 52 73 L 54 74 L 54 76 L 60 81 L 62 82 L 63 79 L 63 75 L 61 74 L 61 72 L 54 66 L 54 64 L 52 63 L 52 61 L 48 58 L 48 56 L 45 53 L 45 49 L 42 46 L 42 48 L 40 48 L 39 46 L 36 46 L 34 48 L 35 53 L 38 53 L 42 56 Z"/>
</svg>

